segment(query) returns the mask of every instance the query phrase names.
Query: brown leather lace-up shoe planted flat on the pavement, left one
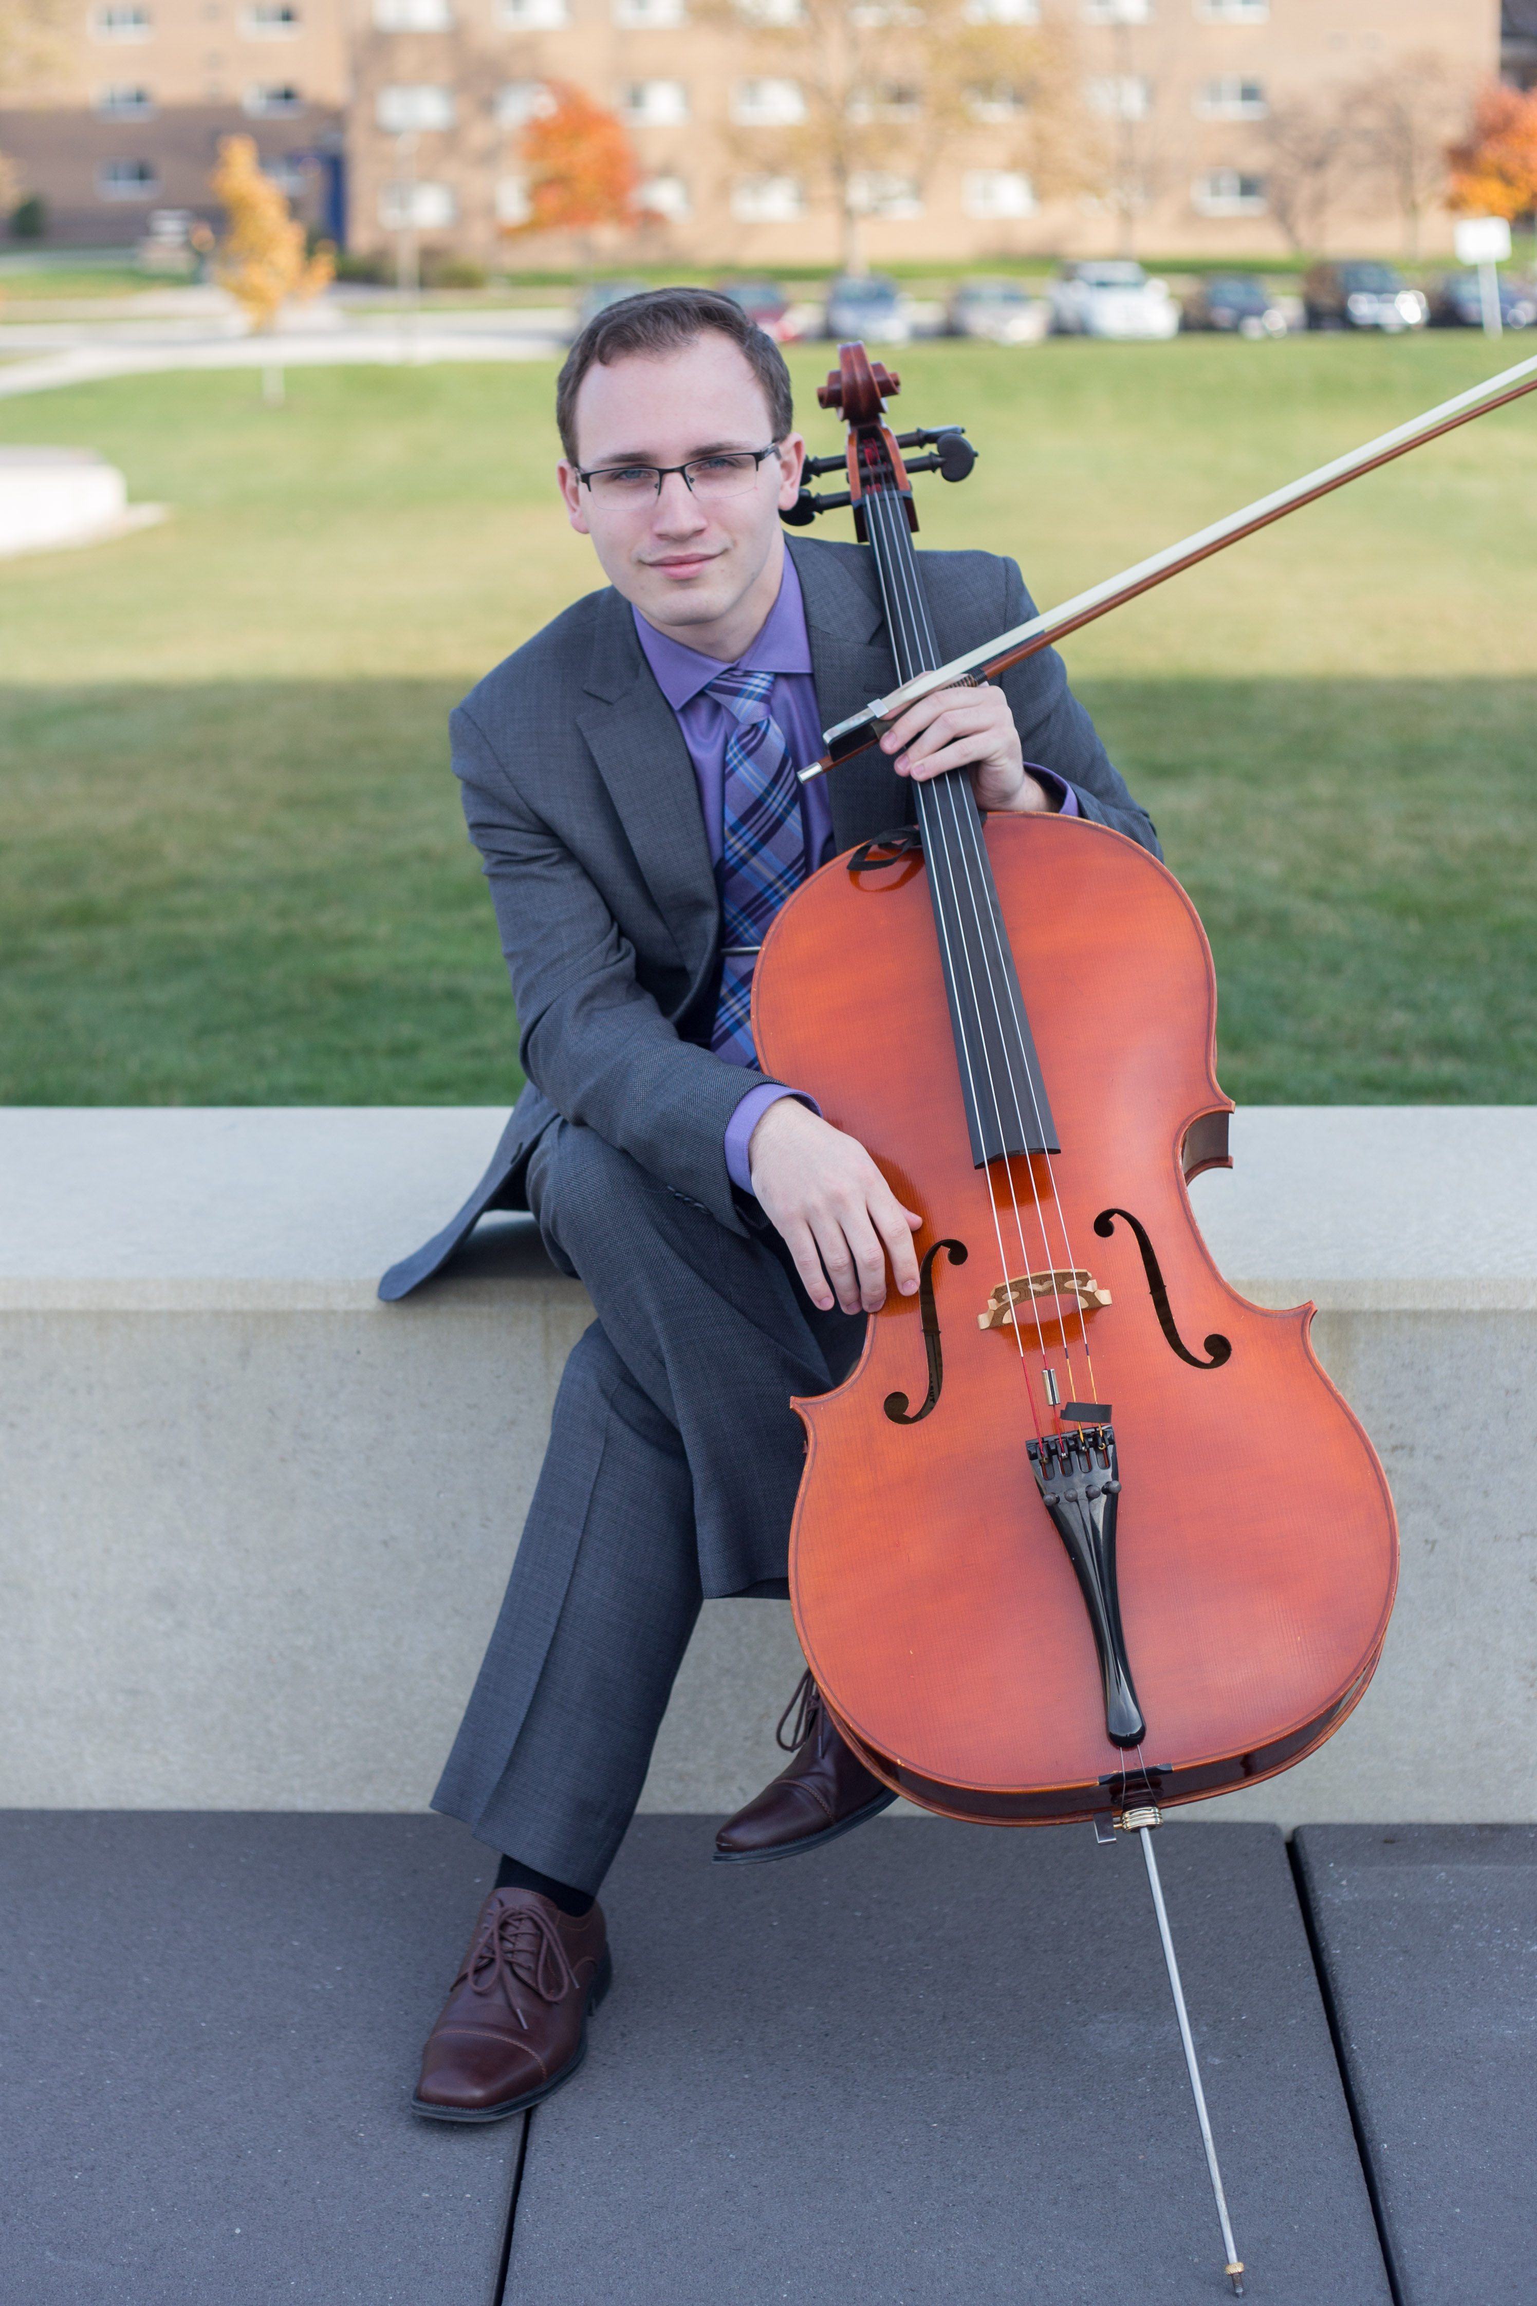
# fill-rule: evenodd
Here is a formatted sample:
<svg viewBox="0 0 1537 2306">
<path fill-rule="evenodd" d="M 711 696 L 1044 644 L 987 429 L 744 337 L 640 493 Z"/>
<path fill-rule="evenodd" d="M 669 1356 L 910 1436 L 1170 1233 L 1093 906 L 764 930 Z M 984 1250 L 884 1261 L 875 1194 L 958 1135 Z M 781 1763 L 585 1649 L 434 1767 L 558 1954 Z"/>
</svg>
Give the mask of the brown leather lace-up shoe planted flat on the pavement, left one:
<svg viewBox="0 0 1537 2306">
<path fill-rule="evenodd" d="M 501 2122 L 538 2105 L 586 2057 L 588 2011 L 612 1976 L 600 1905 L 572 1921 L 533 1889 L 494 1889 L 427 2036 L 418 2115 Z"/>
</svg>

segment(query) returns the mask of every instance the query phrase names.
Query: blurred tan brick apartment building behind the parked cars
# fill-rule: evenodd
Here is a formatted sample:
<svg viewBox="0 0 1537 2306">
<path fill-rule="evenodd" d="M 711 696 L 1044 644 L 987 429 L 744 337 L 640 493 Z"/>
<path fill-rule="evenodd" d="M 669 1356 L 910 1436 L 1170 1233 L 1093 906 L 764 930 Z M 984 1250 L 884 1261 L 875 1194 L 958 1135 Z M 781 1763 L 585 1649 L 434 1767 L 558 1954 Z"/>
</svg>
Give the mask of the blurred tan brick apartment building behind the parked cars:
<svg viewBox="0 0 1537 2306">
<path fill-rule="evenodd" d="M 78 0 L 76 0 L 78 5 Z M 526 214 L 522 136 L 568 81 L 612 106 L 635 145 L 644 214 L 628 256 L 771 270 L 835 263 L 838 201 L 808 152 L 822 53 L 757 23 L 801 0 L 92 0 L 69 67 L 0 108 L 0 150 L 48 203 L 51 238 L 134 240 L 152 208 L 210 212 L 208 168 L 231 129 L 256 136 L 295 210 L 358 254 L 413 221 L 427 251 L 480 263 L 591 254 L 510 238 Z M 955 5 L 955 0 L 951 0 Z M 1029 254 L 1262 256 L 1276 217 L 1281 118 L 1417 74 L 1447 106 L 1500 71 L 1525 78 L 1535 0 L 965 0 L 965 18 L 1069 60 L 1062 85 L 1094 150 L 1085 189 L 1036 182 L 1025 78 L 974 90 L 928 152 L 923 85 L 872 85 L 893 161 L 863 171 L 872 265 Z M 1045 21 L 1041 25 L 1041 12 Z M 865 25 L 905 0 L 852 0 Z M 1036 32 L 1041 25 L 1041 35 Z M 893 35 L 895 37 L 895 35 Z M 1449 219 L 1424 219 L 1426 254 Z M 1341 175 L 1332 247 L 1396 254 L 1385 171 Z"/>
</svg>

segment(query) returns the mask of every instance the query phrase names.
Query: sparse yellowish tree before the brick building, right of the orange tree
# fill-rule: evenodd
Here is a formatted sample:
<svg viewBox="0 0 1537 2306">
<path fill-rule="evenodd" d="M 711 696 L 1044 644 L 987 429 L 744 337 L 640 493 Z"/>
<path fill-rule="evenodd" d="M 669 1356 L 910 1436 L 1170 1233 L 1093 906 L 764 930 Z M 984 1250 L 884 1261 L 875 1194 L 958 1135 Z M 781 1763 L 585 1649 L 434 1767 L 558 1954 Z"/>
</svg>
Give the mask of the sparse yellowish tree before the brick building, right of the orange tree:
<svg viewBox="0 0 1537 2306">
<path fill-rule="evenodd" d="M 764 78 L 738 90 L 734 155 L 819 184 L 842 267 L 863 272 L 865 217 L 909 212 L 979 122 L 1004 127 L 1013 164 L 1034 157 L 1032 178 L 1062 168 L 1062 39 L 1032 14 L 1018 0 L 736 0 Z"/>
</svg>

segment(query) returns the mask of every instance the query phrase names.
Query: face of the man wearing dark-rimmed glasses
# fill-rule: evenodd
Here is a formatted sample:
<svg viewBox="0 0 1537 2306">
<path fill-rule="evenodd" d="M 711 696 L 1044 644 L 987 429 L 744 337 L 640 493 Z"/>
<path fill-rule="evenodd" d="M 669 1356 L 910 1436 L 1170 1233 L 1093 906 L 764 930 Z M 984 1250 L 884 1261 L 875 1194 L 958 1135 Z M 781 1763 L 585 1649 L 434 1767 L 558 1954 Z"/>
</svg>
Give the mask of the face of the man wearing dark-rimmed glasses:
<svg viewBox="0 0 1537 2306">
<path fill-rule="evenodd" d="M 593 364 L 577 392 L 575 422 L 584 470 L 757 450 L 773 431 L 764 387 L 718 330 L 704 330 L 665 360 Z M 773 579 L 778 590 L 780 505 L 796 500 L 803 447 L 801 434 L 789 434 L 741 496 L 708 503 L 681 473 L 669 473 L 660 496 L 614 503 L 579 482 L 565 459 L 561 491 L 570 526 L 593 540 L 609 583 L 648 623 L 690 639 L 695 627 L 729 625 L 755 586 Z M 764 613 L 768 606 L 771 597 Z M 708 655 L 708 632 L 697 632 L 695 646 Z"/>
</svg>

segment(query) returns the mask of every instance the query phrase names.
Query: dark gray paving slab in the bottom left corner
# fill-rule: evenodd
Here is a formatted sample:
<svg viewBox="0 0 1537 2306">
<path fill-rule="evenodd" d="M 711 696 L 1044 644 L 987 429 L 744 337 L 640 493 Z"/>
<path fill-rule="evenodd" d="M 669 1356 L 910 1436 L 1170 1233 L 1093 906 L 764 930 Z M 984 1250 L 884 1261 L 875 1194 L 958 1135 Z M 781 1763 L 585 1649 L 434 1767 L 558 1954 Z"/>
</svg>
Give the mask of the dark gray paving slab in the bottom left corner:
<svg viewBox="0 0 1537 2306">
<path fill-rule="evenodd" d="M 494 2306 L 522 2124 L 406 2103 L 487 1856 L 436 1817 L 0 1813 L 0 2297 Z"/>
</svg>

